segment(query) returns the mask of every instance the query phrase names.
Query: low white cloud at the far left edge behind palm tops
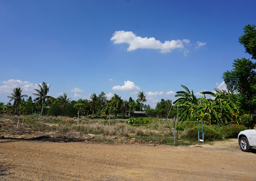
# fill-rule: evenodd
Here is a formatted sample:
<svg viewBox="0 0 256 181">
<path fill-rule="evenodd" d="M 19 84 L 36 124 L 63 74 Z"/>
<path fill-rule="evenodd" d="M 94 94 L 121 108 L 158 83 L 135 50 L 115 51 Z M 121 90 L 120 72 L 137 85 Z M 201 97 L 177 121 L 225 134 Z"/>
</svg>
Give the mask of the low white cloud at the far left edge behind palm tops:
<svg viewBox="0 0 256 181">
<path fill-rule="evenodd" d="M 10 94 L 12 93 L 13 88 L 15 87 L 21 87 L 23 88 L 22 93 L 23 94 L 31 94 L 34 92 L 34 88 L 37 88 L 37 84 L 30 83 L 29 81 L 22 81 L 22 80 L 7 80 L 0 82 L 4 85 L 0 86 L 0 94 Z"/>
</svg>

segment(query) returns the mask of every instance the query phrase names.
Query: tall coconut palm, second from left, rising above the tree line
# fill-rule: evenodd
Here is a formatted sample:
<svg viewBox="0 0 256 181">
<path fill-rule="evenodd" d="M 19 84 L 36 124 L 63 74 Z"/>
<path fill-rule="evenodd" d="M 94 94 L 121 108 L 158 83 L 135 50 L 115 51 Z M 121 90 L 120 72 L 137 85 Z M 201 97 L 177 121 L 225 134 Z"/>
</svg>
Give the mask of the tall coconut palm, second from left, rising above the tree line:
<svg viewBox="0 0 256 181">
<path fill-rule="evenodd" d="M 44 107 L 45 107 L 45 101 L 47 99 L 53 98 L 51 96 L 47 96 L 48 92 L 49 92 L 49 88 L 51 85 L 47 85 L 47 83 L 42 82 L 42 86 L 40 84 L 38 84 L 39 89 L 34 89 L 36 93 L 32 93 L 33 95 L 37 96 L 37 98 L 35 98 L 35 101 L 38 102 L 43 102 L 43 106 L 42 106 L 42 111 L 41 111 L 41 115 L 43 115 L 44 113 Z"/>
</svg>

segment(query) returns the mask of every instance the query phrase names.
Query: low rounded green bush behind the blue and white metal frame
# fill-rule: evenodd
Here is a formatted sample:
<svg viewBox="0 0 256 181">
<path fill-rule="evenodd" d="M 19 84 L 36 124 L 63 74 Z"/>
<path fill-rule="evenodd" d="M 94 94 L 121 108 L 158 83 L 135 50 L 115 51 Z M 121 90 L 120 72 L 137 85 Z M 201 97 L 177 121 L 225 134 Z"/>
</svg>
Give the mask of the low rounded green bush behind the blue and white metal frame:
<svg viewBox="0 0 256 181">
<path fill-rule="evenodd" d="M 202 129 L 200 129 L 200 130 L 202 130 Z M 209 126 L 204 125 L 203 132 L 204 132 L 204 140 L 205 141 L 222 140 L 221 134 Z M 188 130 L 187 136 L 193 140 L 198 140 L 198 126 Z M 200 138 L 202 138 L 201 132 L 200 132 Z"/>
</svg>

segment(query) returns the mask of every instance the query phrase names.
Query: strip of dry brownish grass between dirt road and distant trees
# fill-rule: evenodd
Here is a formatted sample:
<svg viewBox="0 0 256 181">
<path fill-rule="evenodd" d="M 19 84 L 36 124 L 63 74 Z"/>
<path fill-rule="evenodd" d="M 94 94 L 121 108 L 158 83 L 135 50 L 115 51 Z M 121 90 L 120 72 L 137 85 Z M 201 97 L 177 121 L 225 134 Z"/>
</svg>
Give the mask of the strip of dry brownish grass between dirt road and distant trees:
<svg viewBox="0 0 256 181">
<path fill-rule="evenodd" d="M 9 121 L 3 121 L 7 120 Z M 80 124 L 77 126 L 77 118 L 69 117 L 52 117 L 52 116 L 21 116 L 20 123 L 24 120 L 24 124 L 20 124 L 18 129 L 30 129 L 33 131 L 63 131 L 65 134 L 68 131 L 78 131 L 80 134 L 103 134 L 106 136 L 124 136 L 136 135 L 140 137 L 161 137 L 170 136 L 167 123 L 164 121 L 153 120 L 151 123 L 133 127 L 130 124 L 126 124 L 125 120 L 111 120 L 109 126 L 109 120 L 92 119 L 86 117 L 80 117 Z M 56 124 L 54 120 L 60 120 L 61 126 Z M 17 115 L 0 115 L 0 131 L 16 129 L 18 117 Z M 170 125 L 171 127 L 173 124 Z M 185 131 L 184 131 L 185 132 Z"/>
</svg>

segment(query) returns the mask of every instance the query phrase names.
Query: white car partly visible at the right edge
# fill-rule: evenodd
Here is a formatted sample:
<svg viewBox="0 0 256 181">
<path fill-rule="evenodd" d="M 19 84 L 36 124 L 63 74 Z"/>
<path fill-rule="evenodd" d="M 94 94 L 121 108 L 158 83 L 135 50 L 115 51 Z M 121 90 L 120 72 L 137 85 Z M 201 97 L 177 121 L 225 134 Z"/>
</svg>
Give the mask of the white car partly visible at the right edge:
<svg viewBox="0 0 256 181">
<path fill-rule="evenodd" d="M 256 149 L 256 129 L 246 129 L 238 134 L 238 143 L 242 151 Z"/>
</svg>

